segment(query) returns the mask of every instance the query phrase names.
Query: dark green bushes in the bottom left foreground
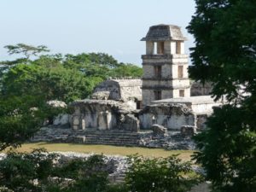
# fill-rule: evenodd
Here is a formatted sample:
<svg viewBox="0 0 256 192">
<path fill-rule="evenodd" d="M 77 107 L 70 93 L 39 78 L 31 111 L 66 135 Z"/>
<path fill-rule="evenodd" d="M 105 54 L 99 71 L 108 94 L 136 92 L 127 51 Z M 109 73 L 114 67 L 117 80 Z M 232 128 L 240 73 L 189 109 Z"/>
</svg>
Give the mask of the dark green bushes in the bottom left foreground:
<svg viewBox="0 0 256 192">
<path fill-rule="evenodd" d="M 0 186 L 14 191 L 110 192 L 108 167 L 103 155 L 87 160 L 59 162 L 57 154 L 35 149 L 31 154 L 11 152 L 0 160 Z M 112 192 L 118 190 L 112 190 Z"/>
</svg>

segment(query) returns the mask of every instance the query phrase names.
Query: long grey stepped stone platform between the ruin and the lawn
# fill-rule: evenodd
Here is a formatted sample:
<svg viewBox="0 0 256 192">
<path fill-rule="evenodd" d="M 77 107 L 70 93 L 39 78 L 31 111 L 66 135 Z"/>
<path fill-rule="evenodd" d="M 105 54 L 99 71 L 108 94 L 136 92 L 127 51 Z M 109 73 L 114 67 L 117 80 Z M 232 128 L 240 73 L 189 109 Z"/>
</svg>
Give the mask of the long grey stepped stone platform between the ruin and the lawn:
<svg viewBox="0 0 256 192">
<path fill-rule="evenodd" d="M 122 130 L 86 130 L 73 131 L 56 127 L 43 127 L 31 138 L 30 142 L 49 143 L 81 143 L 103 144 L 114 146 L 195 149 L 195 143 L 190 137 L 183 137 L 179 131 L 168 131 L 165 135 L 155 135 L 153 131 L 130 132 Z"/>
</svg>

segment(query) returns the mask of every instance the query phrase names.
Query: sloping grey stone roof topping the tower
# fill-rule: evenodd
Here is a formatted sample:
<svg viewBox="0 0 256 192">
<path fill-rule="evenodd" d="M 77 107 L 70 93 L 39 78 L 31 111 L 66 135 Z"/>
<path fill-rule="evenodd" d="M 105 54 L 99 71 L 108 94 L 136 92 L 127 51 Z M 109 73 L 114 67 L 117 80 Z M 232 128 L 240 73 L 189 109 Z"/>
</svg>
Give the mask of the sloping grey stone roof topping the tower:
<svg viewBox="0 0 256 192">
<path fill-rule="evenodd" d="M 157 25 L 150 26 L 148 33 L 142 41 L 168 41 L 168 40 L 187 40 L 183 37 L 183 33 L 179 26 L 173 25 Z"/>
</svg>

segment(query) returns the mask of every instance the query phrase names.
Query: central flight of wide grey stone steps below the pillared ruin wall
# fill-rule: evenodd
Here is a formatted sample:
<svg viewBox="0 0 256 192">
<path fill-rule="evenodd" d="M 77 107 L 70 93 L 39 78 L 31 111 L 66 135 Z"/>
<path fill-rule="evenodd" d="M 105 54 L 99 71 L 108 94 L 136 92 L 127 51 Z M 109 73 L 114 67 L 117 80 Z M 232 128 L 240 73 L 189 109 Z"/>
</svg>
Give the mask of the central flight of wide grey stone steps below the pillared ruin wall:
<svg viewBox="0 0 256 192">
<path fill-rule="evenodd" d="M 137 146 L 140 134 L 128 131 L 81 131 L 77 133 L 76 143 L 106 144 L 118 146 Z"/>
</svg>

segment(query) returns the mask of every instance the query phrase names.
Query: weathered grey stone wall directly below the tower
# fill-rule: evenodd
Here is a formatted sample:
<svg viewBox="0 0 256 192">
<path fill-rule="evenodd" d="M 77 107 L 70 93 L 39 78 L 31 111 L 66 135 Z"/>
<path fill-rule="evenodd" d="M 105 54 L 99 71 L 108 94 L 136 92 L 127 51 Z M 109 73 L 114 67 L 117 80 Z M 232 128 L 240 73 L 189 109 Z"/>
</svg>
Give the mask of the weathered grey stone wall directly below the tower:
<svg viewBox="0 0 256 192">
<path fill-rule="evenodd" d="M 180 130 L 183 125 L 195 126 L 196 117 L 191 109 L 178 104 L 156 104 L 143 109 L 139 115 L 140 127 L 149 129 L 153 124 L 168 130 Z"/>
</svg>

